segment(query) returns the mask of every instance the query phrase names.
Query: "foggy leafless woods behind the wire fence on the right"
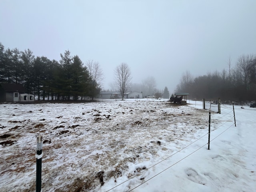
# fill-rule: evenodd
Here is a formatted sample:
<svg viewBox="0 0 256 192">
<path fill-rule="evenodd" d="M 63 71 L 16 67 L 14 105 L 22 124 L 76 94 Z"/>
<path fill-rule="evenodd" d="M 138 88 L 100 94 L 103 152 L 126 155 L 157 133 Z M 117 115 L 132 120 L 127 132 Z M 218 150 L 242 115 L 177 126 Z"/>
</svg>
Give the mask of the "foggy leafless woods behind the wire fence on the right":
<svg viewBox="0 0 256 192">
<path fill-rule="evenodd" d="M 228 70 L 209 72 L 207 75 L 193 78 L 186 71 L 177 92 L 188 92 L 190 98 L 206 98 L 222 101 L 256 100 L 256 56 L 242 55 L 231 68 L 231 58 L 227 61 Z"/>
</svg>

